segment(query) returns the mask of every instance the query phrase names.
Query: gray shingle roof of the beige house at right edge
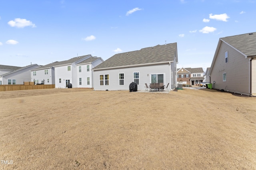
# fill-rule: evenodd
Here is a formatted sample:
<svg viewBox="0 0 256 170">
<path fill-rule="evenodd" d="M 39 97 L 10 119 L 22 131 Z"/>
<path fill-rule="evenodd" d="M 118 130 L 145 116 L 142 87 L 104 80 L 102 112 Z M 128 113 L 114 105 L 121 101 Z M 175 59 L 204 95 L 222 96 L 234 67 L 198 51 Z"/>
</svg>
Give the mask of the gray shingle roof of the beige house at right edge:
<svg viewBox="0 0 256 170">
<path fill-rule="evenodd" d="M 256 56 L 256 32 L 220 38 L 248 57 Z"/>
</svg>

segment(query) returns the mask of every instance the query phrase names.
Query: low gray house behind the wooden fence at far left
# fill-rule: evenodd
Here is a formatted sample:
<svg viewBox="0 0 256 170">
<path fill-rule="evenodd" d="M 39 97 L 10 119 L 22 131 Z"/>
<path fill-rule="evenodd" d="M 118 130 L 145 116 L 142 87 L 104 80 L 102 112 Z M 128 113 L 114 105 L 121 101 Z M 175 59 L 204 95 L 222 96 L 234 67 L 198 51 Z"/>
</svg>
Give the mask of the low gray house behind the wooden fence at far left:
<svg viewBox="0 0 256 170">
<path fill-rule="evenodd" d="M 30 81 L 30 70 L 38 68 L 40 65 L 31 64 L 28 66 L 21 67 L 17 70 L 7 72 L 0 75 L 0 81 L 3 85 L 5 84 L 24 84 L 24 82 Z"/>
</svg>

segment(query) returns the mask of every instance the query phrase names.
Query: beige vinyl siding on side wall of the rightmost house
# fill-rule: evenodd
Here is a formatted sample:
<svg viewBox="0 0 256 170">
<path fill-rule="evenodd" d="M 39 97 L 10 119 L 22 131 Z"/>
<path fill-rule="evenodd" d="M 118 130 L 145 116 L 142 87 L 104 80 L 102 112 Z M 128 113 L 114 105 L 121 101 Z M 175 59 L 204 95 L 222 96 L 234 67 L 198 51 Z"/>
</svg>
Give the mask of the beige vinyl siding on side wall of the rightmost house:
<svg viewBox="0 0 256 170">
<path fill-rule="evenodd" d="M 226 51 L 228 51 L 228 63 L 225 63 Z M 226 73 L 226 82 L 223 82 L 223 73 Z M 249 59 L 222 42 L 212 67 L 211 83 L 216 82 L 213 87 L 249 95 L 249 75 Z"/>
</svg>

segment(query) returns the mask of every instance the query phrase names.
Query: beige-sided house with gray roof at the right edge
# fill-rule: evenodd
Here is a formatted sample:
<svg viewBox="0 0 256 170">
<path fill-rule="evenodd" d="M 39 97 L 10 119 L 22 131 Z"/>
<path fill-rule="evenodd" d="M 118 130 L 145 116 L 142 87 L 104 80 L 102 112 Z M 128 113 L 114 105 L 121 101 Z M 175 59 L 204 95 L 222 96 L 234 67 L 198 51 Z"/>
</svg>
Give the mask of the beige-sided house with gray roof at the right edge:
<svg viewBox="0 0 256 170">
<path fill-rule="evenodd" d="M 256 32 L 220 38 L 209 76 L 213 88 L 256 96 Z"/>
</svg>

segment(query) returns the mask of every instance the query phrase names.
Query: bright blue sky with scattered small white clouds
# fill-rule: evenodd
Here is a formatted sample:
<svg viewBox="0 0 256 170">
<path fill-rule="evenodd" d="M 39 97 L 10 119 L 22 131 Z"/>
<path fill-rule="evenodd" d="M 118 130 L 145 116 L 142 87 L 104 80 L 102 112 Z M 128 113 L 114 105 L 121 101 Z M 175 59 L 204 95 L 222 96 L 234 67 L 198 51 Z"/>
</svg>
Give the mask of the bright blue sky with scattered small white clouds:
<svg viewBox="0 0 256 170">
<path fill-rule="evenodd" d="M 0 64 L 177 43 L 177 68 L 206 70 L 221 37 L 256 31 L 255 9 L 256 0 L 0 0 Z"/>
</svg>

